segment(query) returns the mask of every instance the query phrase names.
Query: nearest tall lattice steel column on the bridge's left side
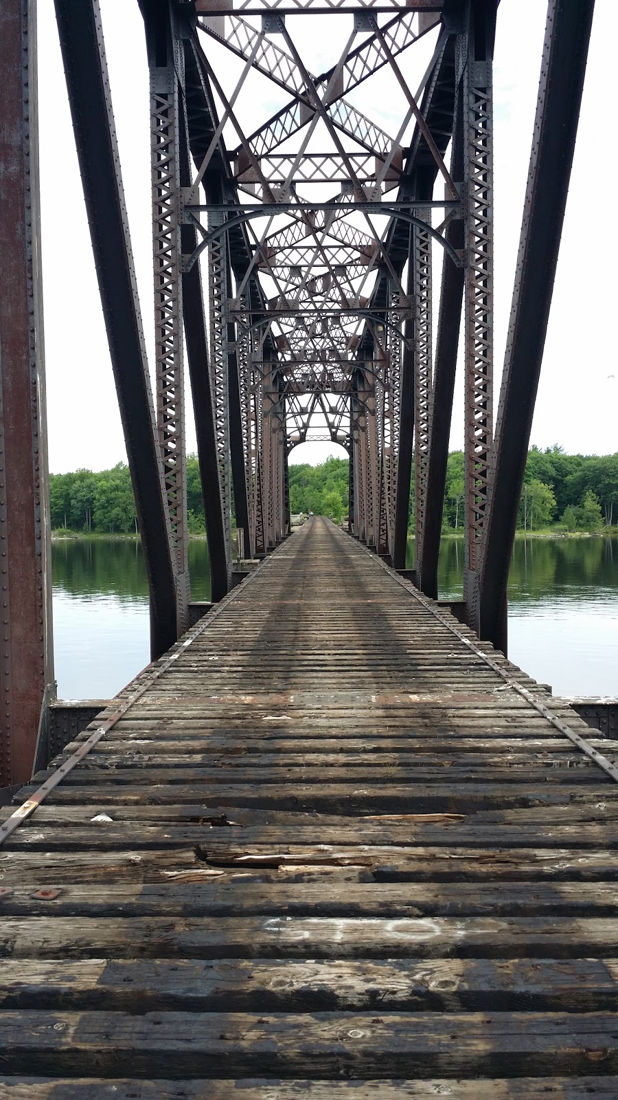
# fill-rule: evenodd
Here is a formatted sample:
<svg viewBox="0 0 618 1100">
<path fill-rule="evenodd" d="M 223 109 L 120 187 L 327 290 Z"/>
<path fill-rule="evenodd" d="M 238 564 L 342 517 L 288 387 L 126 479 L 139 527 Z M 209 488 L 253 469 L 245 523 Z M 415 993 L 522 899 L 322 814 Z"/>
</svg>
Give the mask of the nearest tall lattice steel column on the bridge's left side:
<svg viewBox="0 0 618 1100">
<path fill-rule="evenodd" d="M 181 629 L 188 626 L 187 471 L 183 375 L 183 293 L 178 198 L 180 150 L 178 80 L 184 72 L 181 43 L 169 10 L 146 21 L 151 80 L 151 174 L 155 310 L 156 421 L 172 540 Z"/>
</svg>

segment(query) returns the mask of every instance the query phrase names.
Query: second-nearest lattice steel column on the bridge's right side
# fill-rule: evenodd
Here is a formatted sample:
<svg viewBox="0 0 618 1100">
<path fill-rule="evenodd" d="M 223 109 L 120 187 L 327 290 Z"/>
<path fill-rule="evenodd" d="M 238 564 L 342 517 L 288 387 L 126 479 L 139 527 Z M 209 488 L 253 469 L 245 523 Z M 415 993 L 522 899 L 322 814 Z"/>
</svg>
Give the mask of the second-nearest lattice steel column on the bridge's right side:
<svg viewBox="0 0 618 1100">
<path fill-rule="evenodd" d="M 417 218 L 431 224 L 431 208 L 419 207 Z M 415 524 L 417 578 L 422 574 L 427 472 L 432 385 L 432 295 L 431 237 L 419 226 L 413 228 L 415 265 Z"/>
</svg>

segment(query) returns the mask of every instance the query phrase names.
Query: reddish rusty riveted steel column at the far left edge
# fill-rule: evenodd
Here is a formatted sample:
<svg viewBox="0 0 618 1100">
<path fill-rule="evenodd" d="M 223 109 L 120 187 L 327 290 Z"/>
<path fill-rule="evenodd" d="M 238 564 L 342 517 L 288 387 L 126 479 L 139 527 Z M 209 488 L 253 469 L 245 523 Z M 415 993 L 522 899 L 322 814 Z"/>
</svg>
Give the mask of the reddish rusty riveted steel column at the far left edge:
<svg viewBox="0 0 618 1100">
<path fill-rule="evenodd" d="M 0 0 L 0 787 L 54 692 L 35 0 Z"/>
</svg>

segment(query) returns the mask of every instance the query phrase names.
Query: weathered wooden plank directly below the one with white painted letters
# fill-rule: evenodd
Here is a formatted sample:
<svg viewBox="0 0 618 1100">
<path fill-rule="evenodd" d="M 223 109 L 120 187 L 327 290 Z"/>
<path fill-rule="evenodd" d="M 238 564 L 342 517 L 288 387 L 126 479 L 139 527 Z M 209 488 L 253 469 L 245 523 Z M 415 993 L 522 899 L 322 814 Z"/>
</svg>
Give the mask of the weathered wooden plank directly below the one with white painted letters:
<svg viewBox="0 0 618 1100">
<path fill-rule="evenodd" d="M 618 959 L 2 961 L 0 1008 L 113 1012 L 618 1009 Z"/>
</svg>

